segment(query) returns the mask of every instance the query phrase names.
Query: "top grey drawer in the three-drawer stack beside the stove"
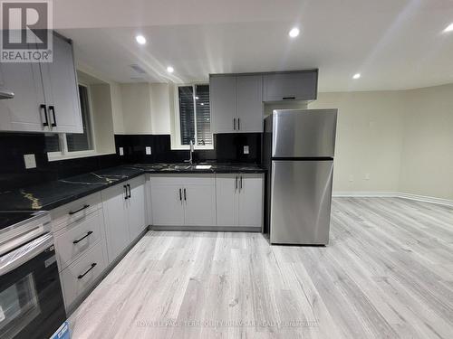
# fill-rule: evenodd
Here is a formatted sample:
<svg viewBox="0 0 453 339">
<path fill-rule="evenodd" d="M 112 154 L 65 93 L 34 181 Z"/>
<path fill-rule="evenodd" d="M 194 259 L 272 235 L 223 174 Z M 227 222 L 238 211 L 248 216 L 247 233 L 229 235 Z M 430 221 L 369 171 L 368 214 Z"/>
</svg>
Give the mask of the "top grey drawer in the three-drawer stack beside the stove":
<svg viewBox="0 0 453 339">
<path fill-rule="evenodd" d="M 101 193 L 94 193 L 51 211 L 52 229 L 58 231 L 75 221 L 81 221 L 101 208 Z"/>
</svg>

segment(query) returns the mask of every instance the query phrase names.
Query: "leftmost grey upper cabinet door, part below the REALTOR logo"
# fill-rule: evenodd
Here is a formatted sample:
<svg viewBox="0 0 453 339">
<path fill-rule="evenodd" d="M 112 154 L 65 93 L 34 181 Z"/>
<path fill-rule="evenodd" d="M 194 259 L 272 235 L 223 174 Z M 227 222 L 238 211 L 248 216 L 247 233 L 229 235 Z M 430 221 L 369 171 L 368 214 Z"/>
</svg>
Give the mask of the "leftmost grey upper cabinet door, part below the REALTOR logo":
<svg viewBox="0 0 453 339">
<path fill-rule="evenodd" d="M 0 64 L 0 88 L 14 92 L 14 99 L 0 100 L 0 130 L 46 132 L 43 83 L 39 64 Z"/>
</svg>

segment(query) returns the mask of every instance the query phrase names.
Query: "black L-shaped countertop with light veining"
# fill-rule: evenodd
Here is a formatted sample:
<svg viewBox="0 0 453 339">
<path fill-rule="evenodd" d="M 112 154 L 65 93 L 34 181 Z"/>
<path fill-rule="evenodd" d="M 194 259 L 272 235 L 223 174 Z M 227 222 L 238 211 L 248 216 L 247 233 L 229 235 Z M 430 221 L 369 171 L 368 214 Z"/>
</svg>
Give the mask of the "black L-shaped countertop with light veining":
<svg viewBox="0 0 453 339">
<path fill-rule="evenodd" d="M 209 169 L 197 169 L 189 164 L 120 165 L 101 171 L 75 175 L 45 184 L 0 192 L 0 211 L 53 210 L 68 202 L 99 192 L 140 174 L 213 174 L 264 173 L 258 165 L 208 164 Z"/>
</svg>

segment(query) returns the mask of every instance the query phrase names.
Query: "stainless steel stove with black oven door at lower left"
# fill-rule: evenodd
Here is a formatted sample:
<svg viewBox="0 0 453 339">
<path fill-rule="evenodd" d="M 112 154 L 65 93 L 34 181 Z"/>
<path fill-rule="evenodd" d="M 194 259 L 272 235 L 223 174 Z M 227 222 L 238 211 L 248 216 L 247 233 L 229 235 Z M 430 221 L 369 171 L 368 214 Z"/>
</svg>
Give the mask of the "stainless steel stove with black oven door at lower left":
<svg viewBox="0 0 453 339">
<path fill-rule="evenodd" d="M 49 338 L 66 319 L 46 212 L 0 212 L 0 338 Z"/>
</svg>

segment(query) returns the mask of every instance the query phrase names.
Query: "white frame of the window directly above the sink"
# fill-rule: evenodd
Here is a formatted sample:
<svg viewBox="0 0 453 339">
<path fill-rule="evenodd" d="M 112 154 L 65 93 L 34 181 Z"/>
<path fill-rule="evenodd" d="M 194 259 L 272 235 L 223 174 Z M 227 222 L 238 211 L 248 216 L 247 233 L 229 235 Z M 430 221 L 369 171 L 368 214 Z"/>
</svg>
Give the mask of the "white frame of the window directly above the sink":
<svg viewBox="0 0 453 339">
<path fill-rule="evenodd" d="M 191 82 L 191 83 L 178 83 L 175 86 L 174 90 L 174 110 L 175 110 L 175 121 L 174 121 L 174 136 L 171 138 L 171 149 L 189 149 L 189 145 L 182 145 L 181 143 L 181 121 L 179 116 L 179 87 L 188 87 L 191 86 L 194 90 L 194 124 L 195 124 L 195 140 L 197 140 L 197 104 L 195 99 L 195 86 L 197 85 L 207 85 L 209 86 L 209 82 Z M 211 88 L 209 87 L 209 101 L 211 99 Z M 212 144 L 211 145 L 194 145 L 194 149 L 205 149 L 205 150 L 213 150 L 214 149 L 214 134 L 212 133 L 212 115 L 211 115 L 211 106 L 209 103 L 209 125 L 211 129 L 212 135 Z"/>
</svg>

